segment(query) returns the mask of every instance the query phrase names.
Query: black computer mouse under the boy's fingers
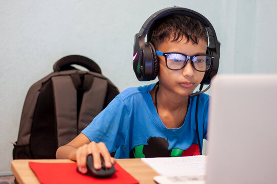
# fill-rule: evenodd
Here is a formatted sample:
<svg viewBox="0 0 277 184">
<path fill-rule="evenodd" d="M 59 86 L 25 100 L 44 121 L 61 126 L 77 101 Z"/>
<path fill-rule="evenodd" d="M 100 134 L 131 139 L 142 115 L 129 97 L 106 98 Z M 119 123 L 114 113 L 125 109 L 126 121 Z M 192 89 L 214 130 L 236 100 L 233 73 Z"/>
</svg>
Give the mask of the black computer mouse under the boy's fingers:
<svg viewBox="0 0 277 184">
<path fill-rule="evenodd" d="M 98 170 L 94 169 L 93 156 L 91 154 L 89 154 L 87 156 L 88 172 L 85 175 L 96 177 L 96 178 L 108 178 L 108 177 L 110 177 L 111 175 L 113 175 L 115 173 L 115 169 L 113 167 L 113 164 L 112 164 L 111 168 L 106 168 L 105 162 L 104 162 L 104 159 L 103 159 L 102 156 L 101 156 L 101 164 L 102 164 L 101 169 L 98 169 Z M 80 172 L 78 170 L 78 167 L 77 167 L 77 171 Z M 81 173 L 81 174 L 83 174 L 83 173 Z"/>
</svg>

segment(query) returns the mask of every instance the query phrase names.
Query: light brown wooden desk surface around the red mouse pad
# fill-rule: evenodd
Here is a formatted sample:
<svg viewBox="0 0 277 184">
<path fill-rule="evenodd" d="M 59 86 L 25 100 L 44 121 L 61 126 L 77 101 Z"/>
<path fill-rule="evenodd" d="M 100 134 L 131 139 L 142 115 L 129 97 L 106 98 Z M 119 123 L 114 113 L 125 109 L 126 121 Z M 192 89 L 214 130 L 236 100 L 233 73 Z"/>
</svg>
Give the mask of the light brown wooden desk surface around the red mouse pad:
<svg viewBox="0 0 277 184">
<path fill-rule="evenodd" d="M 73 163 L 69 159 L 18 159 L 12 160 L 11 170 L 20 184 L 38 184 L 39 181 L 29 167 L 28 162 L 43 162 L 43 163 Z M 133 159 L 117 159 L 117 163 L 129 172 L 140 184 L 155 183 L 153 180 L 157 174 L 148 165 L 142 162 L 140 158 Z"/>
</svg>

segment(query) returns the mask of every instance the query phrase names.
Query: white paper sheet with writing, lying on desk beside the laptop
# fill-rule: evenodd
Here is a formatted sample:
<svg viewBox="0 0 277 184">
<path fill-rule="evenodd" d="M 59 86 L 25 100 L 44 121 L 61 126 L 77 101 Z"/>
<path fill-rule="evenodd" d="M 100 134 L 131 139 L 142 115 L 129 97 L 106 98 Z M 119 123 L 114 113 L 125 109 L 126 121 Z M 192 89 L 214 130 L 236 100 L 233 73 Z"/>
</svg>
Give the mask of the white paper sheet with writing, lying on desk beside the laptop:
<svg viewBox="0 0 277 184">
<path fill-rule="evenodd" d="M 142 158 L 157 173 L 165 176 L 206 175 L 207 156 Z"/>
</svg>

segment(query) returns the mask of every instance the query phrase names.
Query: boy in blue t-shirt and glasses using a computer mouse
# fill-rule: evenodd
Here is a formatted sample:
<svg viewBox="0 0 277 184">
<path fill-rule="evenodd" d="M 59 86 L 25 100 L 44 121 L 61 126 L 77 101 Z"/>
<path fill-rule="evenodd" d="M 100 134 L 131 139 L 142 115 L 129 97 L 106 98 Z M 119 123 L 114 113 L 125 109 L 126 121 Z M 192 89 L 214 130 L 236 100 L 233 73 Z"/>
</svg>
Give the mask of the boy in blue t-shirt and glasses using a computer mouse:
<svg viewBox="0 0 277 184">
<path fill-rule="evenodd" d="M 115 158 L 200 154 L 199 140 L 207 133 L 209 96 L 189 95 L 212 65 L 213 56 L 206 55 L 205 26 L 195 18 L 173 14 L 156 20 L 150 30 L 148 41 L 159 61 L 159 82 L 124 90 L 56 152 L 57 158 L 76 160 L 82 173 L 87 172 L 88 154 L 93 155 L 96 169 L 101 168 L 101 155 L 106 167 L 111 167 L 115 159 L 110 153 Z"/>
</svg>

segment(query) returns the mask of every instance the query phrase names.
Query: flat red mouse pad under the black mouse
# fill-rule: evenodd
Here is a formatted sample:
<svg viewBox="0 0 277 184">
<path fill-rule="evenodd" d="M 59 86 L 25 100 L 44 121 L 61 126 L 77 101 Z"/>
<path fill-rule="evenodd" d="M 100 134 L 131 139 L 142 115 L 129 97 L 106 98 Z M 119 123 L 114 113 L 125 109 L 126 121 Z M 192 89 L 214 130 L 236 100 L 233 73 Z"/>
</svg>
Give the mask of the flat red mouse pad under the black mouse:
<svg viewBox="0 0 277 184">
<path fill-rule="evenodd" d="M 51 183 L 138 183 L 119 164 L 114 164 L 115 174 L 110 178 L 99 179 L 80 174 L 76 171 L 76 163 L 36 163 L 29 162 L 30 168 L 42 184 Z"/>
</svg>

